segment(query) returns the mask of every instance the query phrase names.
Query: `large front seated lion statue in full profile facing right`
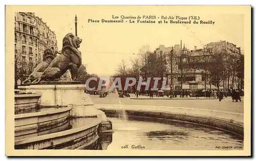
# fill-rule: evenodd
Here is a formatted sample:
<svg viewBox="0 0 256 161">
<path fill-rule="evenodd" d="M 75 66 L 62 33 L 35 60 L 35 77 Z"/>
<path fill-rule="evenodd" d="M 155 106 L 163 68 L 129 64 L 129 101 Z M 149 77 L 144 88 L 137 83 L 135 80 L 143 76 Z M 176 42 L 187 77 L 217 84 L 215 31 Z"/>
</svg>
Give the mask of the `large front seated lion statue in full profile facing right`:
<svg viewBox="0 0 256 161">
<path fill-rule="evenodd" d="M 32 84 L 45 80 L 56 81 L 69 69 L 72 80 L 78 81 L 78 68 L 82 63 L 81 52 L 78 50 L 81 42 L 82 39 L 74 36 L 72 33 L 68 33 L 63 38 L 61 54 L 53 59 L 51 64 Z"/>
</svg>

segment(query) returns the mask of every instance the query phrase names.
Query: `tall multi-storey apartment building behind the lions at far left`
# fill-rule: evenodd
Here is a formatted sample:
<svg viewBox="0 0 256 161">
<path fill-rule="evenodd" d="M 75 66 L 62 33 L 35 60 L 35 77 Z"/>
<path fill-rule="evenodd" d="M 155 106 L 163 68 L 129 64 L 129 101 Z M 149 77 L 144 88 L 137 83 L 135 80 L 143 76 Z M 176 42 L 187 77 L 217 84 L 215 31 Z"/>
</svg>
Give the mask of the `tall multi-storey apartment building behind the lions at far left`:
<svg viewBox="0 0 256 161">
<path fill-rule="evenodd" d="M 23 66 L 29 66 L 17 69 L 22 70 L 19 71 L 21 77 L 17 80 L 20 84 L 31 73 L 31 69 L 42 62 L 47 46 L 54 46 L 57 51 L 57 39 L 46 22 L 32 12 L 15 12 L 14 30 L 15 63 L 23 62 Z"/>
</svg>

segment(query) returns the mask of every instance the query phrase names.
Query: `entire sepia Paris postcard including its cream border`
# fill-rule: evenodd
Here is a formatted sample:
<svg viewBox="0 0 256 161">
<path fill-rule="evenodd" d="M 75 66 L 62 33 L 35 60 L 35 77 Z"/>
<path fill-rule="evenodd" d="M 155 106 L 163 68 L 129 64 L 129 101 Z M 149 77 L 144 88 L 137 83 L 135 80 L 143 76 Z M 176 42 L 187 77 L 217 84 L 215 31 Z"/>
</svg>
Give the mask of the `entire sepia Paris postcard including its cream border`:
<svg viewBox="0 0 256 161">
<path fill-rule="evenodd" d="M 251 155 L 250 26 L 251 6 L 6 6 L 6 155 Z"/>
</svg>

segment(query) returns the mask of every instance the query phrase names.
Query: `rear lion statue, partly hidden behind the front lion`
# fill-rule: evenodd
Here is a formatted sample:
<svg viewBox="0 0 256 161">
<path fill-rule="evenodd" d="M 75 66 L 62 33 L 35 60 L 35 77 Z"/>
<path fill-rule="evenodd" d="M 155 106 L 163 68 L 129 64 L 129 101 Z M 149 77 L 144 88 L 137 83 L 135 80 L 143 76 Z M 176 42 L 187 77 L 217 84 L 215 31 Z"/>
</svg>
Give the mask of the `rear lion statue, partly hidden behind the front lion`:
<svg viewBox="0 0 256 161">
<path fill-rule="evenodd" d="M 23 85 L 30 85 L 35 79 L 41 76 L 42 72 L 50 65 L 52 60 L 56 57 L 57 50 L 54 46 L 48 46 L 43 55 L 43 61 L 38 64 L 29 77 L 22 83 Z"/>
</svg>

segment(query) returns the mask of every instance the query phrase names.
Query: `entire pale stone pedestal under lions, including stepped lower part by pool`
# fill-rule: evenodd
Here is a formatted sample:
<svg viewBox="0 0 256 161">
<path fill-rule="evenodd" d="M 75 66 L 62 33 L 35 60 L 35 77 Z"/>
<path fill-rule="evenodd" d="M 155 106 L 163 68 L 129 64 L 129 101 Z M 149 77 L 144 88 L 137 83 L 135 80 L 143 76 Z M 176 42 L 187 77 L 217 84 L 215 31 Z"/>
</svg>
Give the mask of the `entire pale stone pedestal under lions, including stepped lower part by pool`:
<svg viewBox="0 0 256 161">
<path fill-rule="evenodd" d="M 90 95 L 84 93 L 85 85 L 77 81 L 49 81 L 38 85 L 19 86 L 20 92 L 40 93 L 40 105 L 71 105 L 72 117 L 106 118 L 104 112 L 97 110 Z"/>
</svg>

